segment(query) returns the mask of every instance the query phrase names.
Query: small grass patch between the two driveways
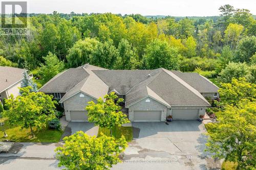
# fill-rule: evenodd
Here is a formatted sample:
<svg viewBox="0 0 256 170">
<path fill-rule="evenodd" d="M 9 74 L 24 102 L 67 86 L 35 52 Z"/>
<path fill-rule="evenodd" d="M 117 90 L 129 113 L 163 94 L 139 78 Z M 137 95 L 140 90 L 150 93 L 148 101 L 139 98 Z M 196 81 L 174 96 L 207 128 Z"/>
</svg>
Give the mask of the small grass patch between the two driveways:
<svg viewBox="0 0 256 170">
<path fill-rule="evenodd" d="M 110 130 L 106 128 L 99 128 L 98 135 L 100 135 L 100 132 L 103 134 L 110 136 Z M 133 128 L 132 127 L 114 127 L 112 129 L 113 136 L 115 138 L 120 138 L 122 135 L 125 137 L 126 141 L 132 141 L 133 140 Z"/>
</svg>

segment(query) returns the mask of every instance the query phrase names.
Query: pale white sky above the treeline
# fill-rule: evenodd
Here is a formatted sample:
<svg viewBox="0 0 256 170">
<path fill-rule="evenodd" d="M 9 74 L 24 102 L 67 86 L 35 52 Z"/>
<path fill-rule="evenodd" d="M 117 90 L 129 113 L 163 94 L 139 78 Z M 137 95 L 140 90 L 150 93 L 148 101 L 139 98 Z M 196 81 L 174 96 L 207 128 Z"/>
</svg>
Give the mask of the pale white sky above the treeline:
<svg viewBox="0 0 256 170">
<path fill-rule="evenodd" d="M 216 16 L 219 7 L 249 9 L 256 15 L 256 0 L 29 0 L 29 13 L 105 13 Z"/>
</svg>

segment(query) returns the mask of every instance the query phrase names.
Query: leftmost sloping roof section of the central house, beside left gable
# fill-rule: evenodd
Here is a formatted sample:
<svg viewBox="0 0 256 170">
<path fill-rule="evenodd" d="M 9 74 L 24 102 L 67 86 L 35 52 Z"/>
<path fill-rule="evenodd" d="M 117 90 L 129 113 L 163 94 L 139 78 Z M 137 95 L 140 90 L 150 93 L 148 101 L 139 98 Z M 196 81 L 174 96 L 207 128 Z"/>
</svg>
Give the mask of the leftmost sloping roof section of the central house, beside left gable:
<svg viewBox="0 0 256 170">
<path fill-rule="evenodd" d="M 77 85 L 83 79 L 89 76 L 83 68 L 70 68 L 61 72 L 42 86 L 39 91 L 42 92 L 67 92 Z"/>
</svg>

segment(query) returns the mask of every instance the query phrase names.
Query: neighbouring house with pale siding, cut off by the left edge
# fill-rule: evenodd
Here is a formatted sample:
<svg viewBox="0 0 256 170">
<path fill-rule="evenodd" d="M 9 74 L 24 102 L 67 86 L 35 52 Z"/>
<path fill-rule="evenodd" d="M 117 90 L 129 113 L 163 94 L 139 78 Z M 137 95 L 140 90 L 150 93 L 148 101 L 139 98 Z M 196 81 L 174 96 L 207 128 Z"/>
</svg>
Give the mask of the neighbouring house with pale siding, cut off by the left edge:
<svg viewBox="0 0 256 170">
<path fill-rule="evenodd" d="M 24 79 L 24 72 L 28 70 L 22 68 L 0 66 L 0 101 L 8 99 L 11 94 L 16 97 L 19 95 L 19 89 L 22 80 Z"/>
</svg>

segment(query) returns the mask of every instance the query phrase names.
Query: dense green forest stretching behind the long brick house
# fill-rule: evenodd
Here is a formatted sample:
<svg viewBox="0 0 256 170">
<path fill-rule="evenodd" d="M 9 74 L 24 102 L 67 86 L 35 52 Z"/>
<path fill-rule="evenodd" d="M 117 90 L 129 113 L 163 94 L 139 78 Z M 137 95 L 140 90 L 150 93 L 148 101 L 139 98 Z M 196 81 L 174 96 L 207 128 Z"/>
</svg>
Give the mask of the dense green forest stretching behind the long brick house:
<svg viewBox="0 0 256 170">
<path fill-rule="evenodd" d="M 41 83 L 90 63 L 109 69 L 198 72 L 255 83 L 256 20 L 230 5 L 213 17 L 31 14 L 27 36 L 0 35 L 0 65 L 27 68 Z"/>
</svg>

